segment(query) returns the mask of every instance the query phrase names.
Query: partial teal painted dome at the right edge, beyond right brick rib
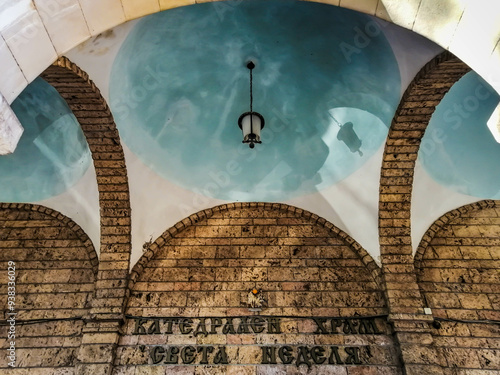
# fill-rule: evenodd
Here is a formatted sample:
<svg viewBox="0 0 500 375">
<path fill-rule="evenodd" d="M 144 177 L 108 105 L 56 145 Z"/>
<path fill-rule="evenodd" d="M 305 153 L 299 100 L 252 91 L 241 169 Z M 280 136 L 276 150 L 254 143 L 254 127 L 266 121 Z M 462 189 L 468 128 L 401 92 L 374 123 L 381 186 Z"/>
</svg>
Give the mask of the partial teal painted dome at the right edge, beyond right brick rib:
<svg viewBox="0 0 500 375">
<path fill-rule="evenodd" d="M 500 199 L 500 144 L 487 126 L 499 100 L 475 72 L 445 95 L 419 151 L 419 161 L 435 181 L 461 194 Z"/>
</svg>

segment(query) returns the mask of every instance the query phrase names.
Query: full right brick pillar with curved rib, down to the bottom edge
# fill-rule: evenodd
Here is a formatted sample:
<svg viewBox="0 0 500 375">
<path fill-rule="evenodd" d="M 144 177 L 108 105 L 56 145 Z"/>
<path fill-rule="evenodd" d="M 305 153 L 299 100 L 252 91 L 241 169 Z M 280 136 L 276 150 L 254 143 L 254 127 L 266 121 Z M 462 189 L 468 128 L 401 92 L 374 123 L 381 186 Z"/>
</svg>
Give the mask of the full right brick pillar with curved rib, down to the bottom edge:
<svg viewBox="0 0 500 375">
<path fill-rule="evenodd" d="M 379 202 L 382 272 L 389 320 L 407 375 L 443 374 L 413 264 L 411 192 L 420 141 L 435 107 L 469 67 L 449 52 L 429 62 L 406 90 L 385 146 Z"/>
</svg>

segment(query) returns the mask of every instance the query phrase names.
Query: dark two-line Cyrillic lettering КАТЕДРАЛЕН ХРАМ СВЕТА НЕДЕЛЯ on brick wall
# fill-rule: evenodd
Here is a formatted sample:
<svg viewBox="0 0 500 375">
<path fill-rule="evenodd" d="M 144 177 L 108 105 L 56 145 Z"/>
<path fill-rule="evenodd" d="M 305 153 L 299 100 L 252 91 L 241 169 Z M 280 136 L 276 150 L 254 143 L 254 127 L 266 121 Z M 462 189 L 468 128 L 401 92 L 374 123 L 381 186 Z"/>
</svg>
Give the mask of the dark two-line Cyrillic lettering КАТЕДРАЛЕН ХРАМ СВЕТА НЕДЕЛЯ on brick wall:
<svg viewBox="0 0 500 375">
<path fill-rule="evenodd" d="M 136 335 L 177 334 L 190 335 L 242 335 L 280 334 L 281 319 L 311 319 L 313 335 L 380 335 L 383 332 L 373 317 L 198 317 L 198 318 L 141 318 L 133 317 Z M 384 329 L 385 331 L 385 329 Z M 260 346 L 261 364 L 265 365 L 360 365 L 366 356 L 360 355 L 361 346 L 336 345 L 267 345 Z M 367 348 L 369 350 L 369 348 Z M 150 361 L 154 365 L 225 365 L 230 363 L 225 346 L 211 345 L 171 345 L 153 346 L 149 350 Z"/>
</svg>

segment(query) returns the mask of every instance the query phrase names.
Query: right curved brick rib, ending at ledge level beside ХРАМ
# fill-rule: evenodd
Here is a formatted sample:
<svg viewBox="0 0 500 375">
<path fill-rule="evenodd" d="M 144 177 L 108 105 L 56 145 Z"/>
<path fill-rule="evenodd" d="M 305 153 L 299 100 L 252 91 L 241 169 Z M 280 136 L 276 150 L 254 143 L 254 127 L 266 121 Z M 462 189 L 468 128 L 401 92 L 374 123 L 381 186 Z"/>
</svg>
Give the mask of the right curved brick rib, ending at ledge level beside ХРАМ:
<svg viewBox="0 0 500 375">
<path fill-rule="evenodd" d="M 420 141 L 448 90 L 470 68 L 448 52 L 417 74 L 399 104 L 385 144 L 380 178 L 379 232 L 388 301 L 394 314 L 422 314 L 413 270 L 411 192 Z"/>
</svg>

